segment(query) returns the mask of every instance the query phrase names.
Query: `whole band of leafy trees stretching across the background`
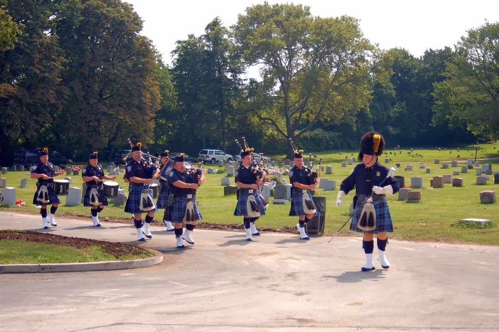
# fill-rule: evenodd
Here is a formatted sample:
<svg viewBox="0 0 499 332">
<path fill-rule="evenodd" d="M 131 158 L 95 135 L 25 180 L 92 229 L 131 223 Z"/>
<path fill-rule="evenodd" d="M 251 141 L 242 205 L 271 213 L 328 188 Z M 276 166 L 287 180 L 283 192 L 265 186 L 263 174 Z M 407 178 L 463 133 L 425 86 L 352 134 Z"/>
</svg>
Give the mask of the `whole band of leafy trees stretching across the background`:
<svg viewBox="0 0 499 332">
<path fill-rule="evenodd" d="M 49 146 L 72 159 L 112 156 L 126 138 L 151 152 L 356 148 L 497 139 L 499 24 L 456 48 L 382 51 L 353 17 L 254 5 L 226 27 L 179 40 L 172 67 L 119 0 L 0 0 L 0 152 Z M 246 79 L 258 66 L 259 79 Z"/>
</svg>

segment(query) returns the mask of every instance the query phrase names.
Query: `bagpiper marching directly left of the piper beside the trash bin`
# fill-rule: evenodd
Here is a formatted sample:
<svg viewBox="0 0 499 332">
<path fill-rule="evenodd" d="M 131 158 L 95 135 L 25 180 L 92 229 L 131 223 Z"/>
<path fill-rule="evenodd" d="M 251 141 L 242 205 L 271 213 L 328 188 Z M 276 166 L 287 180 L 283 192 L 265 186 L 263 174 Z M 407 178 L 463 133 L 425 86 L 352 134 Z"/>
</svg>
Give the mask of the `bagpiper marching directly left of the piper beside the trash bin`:
<svg viewBox="0 0 499 332">
<path fill-rule="evenodd" d="M 252 163 L 251 150 L 241 152 L 241 165 L 236 171 L 236 185 L 238 186 L 238 203 L 235 216 L 243 216 L 243 225 L 246 231 L 246 241 L 252 241 L 252 236 L 260 235 L 255 221 L 265 214 L 265 207 L 258 193 L 258 186 L 263 185 L 266 176 Z"/>
</svg>

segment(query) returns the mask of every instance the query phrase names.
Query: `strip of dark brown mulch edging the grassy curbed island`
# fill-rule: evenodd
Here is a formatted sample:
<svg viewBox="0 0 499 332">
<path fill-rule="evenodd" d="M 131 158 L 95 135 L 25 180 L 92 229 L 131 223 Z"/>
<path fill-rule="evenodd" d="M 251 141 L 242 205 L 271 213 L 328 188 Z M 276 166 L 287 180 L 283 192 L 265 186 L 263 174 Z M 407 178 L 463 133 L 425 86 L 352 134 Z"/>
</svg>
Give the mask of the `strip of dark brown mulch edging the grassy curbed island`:
<svg viewBox="0 0 499 332">
<path fill-rule="evenodd" d="M 0 240 L 24 240 L 27 242 L 38 242 L 45 244 L 53 244 L 62 247 L 74 247 L 78 249 L 88 248 L 90 246 L 100 246 L 103 250 L 113 255 L 116 258 L 121 256 L 132 254 L 140 255 L 145 250 L 139 247 L 134 247 L 122 243 L 98 241 L 91 239 L 73 238 L 62 235 L 48 234 L 48 233 L 38 233 L 32 231 L 10 231 L 10 230 L 0 230 Z"/>
</svg>

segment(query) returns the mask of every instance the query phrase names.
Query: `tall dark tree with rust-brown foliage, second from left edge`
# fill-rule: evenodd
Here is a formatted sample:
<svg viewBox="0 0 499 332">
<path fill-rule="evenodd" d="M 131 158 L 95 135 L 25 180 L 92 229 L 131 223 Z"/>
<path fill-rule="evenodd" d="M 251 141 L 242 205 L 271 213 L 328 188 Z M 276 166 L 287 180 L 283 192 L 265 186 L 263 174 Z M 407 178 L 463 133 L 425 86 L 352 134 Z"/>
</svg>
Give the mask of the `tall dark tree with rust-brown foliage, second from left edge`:
<svg viewBox="0 0 499 332">
<path fill-rule="evenodd" d="M 159 55 L 139 35 L 142 20 L 119 0 L 69 0 L 55 17 L 68 61 L 62 82 L 70 90 L 56 139 L 86 154 L 126 138 L 153 141 L 160 108 Z M 64 130 L 63 130 L 64 129 Z"/>
</svg>

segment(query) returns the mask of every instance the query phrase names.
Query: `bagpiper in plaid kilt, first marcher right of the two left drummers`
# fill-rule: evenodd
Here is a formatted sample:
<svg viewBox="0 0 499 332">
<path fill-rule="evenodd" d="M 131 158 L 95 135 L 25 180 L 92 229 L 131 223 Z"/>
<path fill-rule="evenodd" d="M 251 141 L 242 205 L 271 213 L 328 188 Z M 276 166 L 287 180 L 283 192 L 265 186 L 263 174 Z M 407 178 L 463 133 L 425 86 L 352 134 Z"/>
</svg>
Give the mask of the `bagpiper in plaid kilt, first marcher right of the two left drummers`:
<svg viewBox="0 0 499 332">
<path fill-rule="evenodd" d="M 125 205 L 125 212 L 134 214 L 137 241 L 145 241 L 142 234 L 152 239 L 149 225 L 154 220 L 154 213 L 158 211 L 154 204 L 152 189 L 149 188 L 149 185 L 154 182 L 153 176 L 149 165 L 141 161 L 141 146 L 142 143 L 139 142 L 132 147 L 133 160 L 127 165 L 125 171 L 125 178 L 130 181 L 130 194 Z M 147 213 L 144 225 L 142 225 L 142 213 Z"/>
</svg>

